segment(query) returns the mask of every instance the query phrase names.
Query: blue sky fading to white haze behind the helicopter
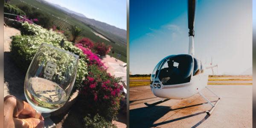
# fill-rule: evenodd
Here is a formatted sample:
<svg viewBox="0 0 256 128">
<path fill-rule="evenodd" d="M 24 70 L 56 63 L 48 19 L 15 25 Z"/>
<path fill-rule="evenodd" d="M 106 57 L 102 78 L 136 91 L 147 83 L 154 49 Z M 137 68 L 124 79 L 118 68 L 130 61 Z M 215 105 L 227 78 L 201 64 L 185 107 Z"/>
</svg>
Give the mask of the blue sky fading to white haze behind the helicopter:
<svg viewBox="0 0 256 128">
<path fill-rule="evenodd" d="M 140 3 L 141 2 L 141 3 Z M 187 54 L 187 0 L 130 0 L 130 71 L 149 74 L 164 57 Z M 252 67 L 252 1 L 198 0 L 195 56 L 218 64 L 218 73 Z"/>
</svg>

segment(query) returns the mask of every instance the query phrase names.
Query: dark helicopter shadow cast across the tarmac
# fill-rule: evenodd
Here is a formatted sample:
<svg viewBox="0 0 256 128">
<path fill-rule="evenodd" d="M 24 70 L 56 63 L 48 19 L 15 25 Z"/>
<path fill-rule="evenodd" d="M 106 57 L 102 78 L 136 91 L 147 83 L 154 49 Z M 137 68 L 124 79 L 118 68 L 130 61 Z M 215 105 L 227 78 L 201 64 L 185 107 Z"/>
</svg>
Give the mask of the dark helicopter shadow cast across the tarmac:
<svg viewBox="0 0 256 128">
<path fill-rule="evenodd" d="M 212 101 L 216 102 L 216 101 Z M 207 103 L 207 102 L 206 102 Z M 205 111 L 199 112 L 199 113 L 194 113 L 191 115 L 179 117 L 176 119 L 164 121 L 164 122 L 159 122 L 154 124 L 158 119 L 169 113 L 170 111 L 175 111 L 175 110 L 181 110 L 184 108 L 190 108 L 190 107 L 195 107 L 198 105 L 203 105 L 206 103 L 201 103 L 201 104 L 196 104 L 196 105 L 189 105 L 181 108 L 175 108 L 172 109 L 169 106 L 151 106 L 151 107 L 144 107 L 144 108 L 137 108 L 137 109 L 132 109 L 130 110 L 130 127 L 131 128 L 151 128 L 151 127 L 157 127 L 159 125 L 164 125 L 168 124 L 171 122 L 175 122 L 181 119 L 186 119 L 192 116 L 198 116 L 200 114 L 206 113 Z M 201 123 L 203 123 L 206 119 L 208 119 L 208 115 L 206 115 L 201 121 L 199 121 L 197 124 L 192 126 L 192 128 L 198 127 Z"/>
</svg>

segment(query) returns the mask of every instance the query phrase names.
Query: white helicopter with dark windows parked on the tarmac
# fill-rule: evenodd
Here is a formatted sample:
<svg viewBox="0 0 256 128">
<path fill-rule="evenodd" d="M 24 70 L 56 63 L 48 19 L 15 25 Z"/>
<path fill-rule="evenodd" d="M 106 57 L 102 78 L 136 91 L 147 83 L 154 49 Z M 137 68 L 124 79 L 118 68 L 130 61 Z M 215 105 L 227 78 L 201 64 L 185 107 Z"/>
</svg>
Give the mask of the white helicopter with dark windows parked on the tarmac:
<svg viewBox="0 0 256 128">
<path fill-rule="evenodd" d="M 150 87 L 155 96 L 163 99 L 145 105 L 153 106 L 169 99 L 187 99 L 198 93 L 212 106 L 211 110 L 206 111 L 210 115 L 221 99 L 207 87 L 208 74 L 205 73 L 206 69 L 217 65 L 204 67 L 201 61 L 194 57 L 194 18 L 195 0 L 188 0 L 189 54 L 169 55 L 157 64 L 151 74 Z M 200 93 L 204 88 L 218 97 L 214 105 Z"/>
</svg>

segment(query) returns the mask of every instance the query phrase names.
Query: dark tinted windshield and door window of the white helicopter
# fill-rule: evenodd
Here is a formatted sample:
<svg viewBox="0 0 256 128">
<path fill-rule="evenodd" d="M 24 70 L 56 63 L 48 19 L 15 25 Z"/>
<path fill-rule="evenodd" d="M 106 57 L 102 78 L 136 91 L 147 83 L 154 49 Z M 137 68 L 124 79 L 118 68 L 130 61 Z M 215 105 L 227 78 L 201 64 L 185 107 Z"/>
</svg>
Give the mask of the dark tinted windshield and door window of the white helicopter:
<svg viewBox="0 0 256 128">
<path fill-rule="evenodd" d="M 163 85 L 186 83 L 190 81 L 193 67 L 191 55 L 172 55 L 165 58 L 157 68 L 157 77 Z"/>
</svg>

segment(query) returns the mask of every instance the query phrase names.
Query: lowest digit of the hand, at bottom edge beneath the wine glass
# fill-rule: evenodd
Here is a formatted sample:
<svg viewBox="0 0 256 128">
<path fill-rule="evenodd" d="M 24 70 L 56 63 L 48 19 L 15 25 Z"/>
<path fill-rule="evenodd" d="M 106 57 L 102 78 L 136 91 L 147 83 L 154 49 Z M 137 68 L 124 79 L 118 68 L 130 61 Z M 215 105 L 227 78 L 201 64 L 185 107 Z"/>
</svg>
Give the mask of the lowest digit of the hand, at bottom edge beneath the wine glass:
<svg viewBox="0 0 256 128">
<path fill-rule="evenodd" d="M 15 128 L 43 128 L 44 121 L 35 118 L 17 119 L 13 118 Z"/>
</svg>

